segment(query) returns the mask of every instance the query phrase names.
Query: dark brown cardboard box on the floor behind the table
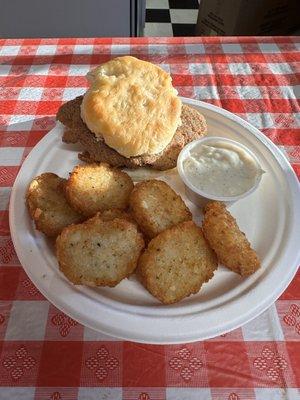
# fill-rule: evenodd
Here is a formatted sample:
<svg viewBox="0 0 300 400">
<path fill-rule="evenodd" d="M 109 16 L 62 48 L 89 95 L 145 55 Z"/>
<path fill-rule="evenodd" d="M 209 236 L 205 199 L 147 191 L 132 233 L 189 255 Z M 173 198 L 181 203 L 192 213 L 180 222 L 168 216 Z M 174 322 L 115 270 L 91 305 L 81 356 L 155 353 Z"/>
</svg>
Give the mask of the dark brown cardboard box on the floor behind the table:
<svg viewBox="0 0 300 400">
<path fill-rule="evenodd" d="M 201 0 L 196 35 L 283 35 L 299 16 L 300 0 Z"/>
</svg>

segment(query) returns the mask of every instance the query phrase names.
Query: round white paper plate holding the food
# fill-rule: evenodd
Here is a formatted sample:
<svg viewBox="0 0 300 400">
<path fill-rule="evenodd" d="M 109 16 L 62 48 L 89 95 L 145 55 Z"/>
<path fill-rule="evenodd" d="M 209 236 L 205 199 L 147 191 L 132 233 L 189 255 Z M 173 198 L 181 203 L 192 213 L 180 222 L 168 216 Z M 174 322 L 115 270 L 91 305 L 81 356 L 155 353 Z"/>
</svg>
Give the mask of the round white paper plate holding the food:
<svg viewBox="0 0 300 400">
<path fill-rule="evenodd" d="M 300 190 L 285 156 L 252 125 L 218 107 L 183 99 L 206 117 L 211 136 L 248 146 L 264 174 L 259 189 L 231 207 L 239 226 L 262 260 L 262 268 L 242 279 L 219 267 L 201 291 L 178 304 L 161 305 L 134 277 L 115 288 L 74 286 L 58 270 L 50 241 L 37 232 L 24 202 L 27 185 L 42 172 L 67 177 L 78 164 L 73 145 L 61 141 L 58 124 L 31 151 L 12 189 L 10 228 L 26 273 L 44 296 L 80 323 L 108 335 L 146 343 L 181 343 L 215 337 L 258 316 L 285 290 L 299 260 Z M 186 200 L 177 172 L 154 172 Z M 142 170 L 131 173 L 144 178 Z M 201 213 L 189 201 L 196 223 Z"/>
</svg>

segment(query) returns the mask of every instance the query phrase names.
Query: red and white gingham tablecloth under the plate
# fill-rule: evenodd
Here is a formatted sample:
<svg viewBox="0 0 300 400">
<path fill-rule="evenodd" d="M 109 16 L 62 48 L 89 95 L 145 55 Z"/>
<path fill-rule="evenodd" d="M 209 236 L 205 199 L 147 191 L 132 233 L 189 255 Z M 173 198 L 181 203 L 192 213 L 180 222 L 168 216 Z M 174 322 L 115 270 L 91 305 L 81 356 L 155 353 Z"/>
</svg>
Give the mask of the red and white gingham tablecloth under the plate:
<svg viewBox="0 0 300 400">
<path fill-rule="evenodd" d="M 300 399 L 299 273 L 276 304 L 231 333 L 136 344 L 85 328 L 45 300 L 17 259 L 8 225 L 22 161 L 53 128 L 58 107 L 84 93 L 90 68 L 117 55 L 158 63 L 180 95 L 248 120 L 299 176 L 299 50 L 299 37 L 0 41 L 1 400 Z"/>
</svg>

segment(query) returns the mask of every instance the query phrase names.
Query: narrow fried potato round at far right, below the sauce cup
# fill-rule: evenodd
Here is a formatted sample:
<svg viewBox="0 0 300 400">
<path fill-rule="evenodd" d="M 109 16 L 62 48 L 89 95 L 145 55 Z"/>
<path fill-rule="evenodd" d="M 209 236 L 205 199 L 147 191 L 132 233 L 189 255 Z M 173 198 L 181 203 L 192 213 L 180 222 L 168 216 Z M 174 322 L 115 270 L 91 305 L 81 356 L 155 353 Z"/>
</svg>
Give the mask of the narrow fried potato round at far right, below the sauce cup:
<svg viewBox="0 0 300 400">
<path fill-rule="evenodd" d="M 221 264 L 241 276 L 260 267 L 257 254 L 223 203 L 213 201 L 206 205 L 202 228 Z"/>
</svg>

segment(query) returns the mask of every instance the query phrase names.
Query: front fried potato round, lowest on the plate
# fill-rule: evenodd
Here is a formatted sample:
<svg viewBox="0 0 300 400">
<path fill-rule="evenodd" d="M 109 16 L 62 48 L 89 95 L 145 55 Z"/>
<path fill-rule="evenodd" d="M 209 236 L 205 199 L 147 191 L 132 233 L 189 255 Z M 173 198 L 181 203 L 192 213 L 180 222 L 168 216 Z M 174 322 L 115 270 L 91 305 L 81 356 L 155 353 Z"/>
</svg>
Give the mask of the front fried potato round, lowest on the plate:
<svg viewBox="0 0 300 400">
<path fill-rule="evenodd" d="M 153 296 L 171 304 L 197 293 L 217 266 L 201 228 L 188 221 L 152 239 L 140 257 L 137 272 Z"/>
</svg>

